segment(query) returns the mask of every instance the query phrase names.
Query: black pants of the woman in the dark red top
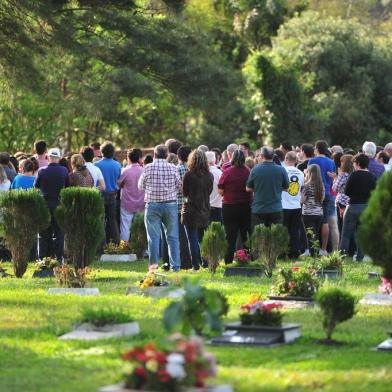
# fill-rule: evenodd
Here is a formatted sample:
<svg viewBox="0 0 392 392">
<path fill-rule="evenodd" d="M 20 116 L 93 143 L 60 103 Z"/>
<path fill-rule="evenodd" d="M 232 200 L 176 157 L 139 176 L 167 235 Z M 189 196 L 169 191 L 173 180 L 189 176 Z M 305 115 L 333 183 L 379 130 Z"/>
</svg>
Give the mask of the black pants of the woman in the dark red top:
<svg viewBox="0 0 392 392">
<path fill-rule="evenodd" d="M 233 262 L 238 232 L 241 234 L 243 244 L 250 235 L 250 205 L 224 204 L 222 212 L 227 238 L 225 263 L 228 264 Z"/>
</svg>

